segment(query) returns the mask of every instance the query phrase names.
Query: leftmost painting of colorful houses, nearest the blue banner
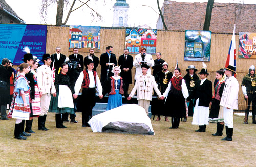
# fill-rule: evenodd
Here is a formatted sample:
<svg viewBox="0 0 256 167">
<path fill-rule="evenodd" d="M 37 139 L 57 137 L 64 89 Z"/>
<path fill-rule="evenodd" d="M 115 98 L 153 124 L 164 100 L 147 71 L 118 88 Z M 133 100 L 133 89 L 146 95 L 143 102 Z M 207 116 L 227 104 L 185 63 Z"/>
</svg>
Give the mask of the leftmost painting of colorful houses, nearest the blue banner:
<svg viewBox="0 0 256 167">
<path fill-rule="evenodd" d="M 100 49 L 100 26 L 71 25 L 69 28 L 69 48 Z"/>
</svg>

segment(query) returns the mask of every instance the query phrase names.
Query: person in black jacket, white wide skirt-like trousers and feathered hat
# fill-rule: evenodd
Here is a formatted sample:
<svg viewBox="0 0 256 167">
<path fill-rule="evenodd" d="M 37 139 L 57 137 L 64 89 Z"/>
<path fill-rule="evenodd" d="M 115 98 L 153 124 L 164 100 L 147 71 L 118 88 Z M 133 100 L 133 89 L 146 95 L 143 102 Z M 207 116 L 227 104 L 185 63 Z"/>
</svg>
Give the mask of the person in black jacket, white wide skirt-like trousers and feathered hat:
<svg viewBox="0 0 256 167">
<path fill-rule="evenodd" d="M 203 62 L 203 69 L 199 72 L 201 81 L 199 82 L 194 95 L 187 98 L 187 101 L 190 101 L 190 98 L 195 98 L 194 102 L 194 115 L 192 124 L 199 125 L 199 129 L 196 132 L 205 132 L 206 125 L 209 124 L 209 105 L 212 99 L 212 84 L 211 81 L 207 79 L 208 71 L 207 66 Z"/>
</svg>

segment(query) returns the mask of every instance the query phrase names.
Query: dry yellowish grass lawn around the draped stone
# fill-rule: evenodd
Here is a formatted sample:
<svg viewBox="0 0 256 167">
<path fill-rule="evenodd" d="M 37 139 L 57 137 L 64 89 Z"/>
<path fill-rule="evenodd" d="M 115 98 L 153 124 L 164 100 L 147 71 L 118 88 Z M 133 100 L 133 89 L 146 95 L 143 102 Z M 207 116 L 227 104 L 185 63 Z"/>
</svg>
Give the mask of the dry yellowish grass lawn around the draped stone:
<svg viewBox="0 0 256 167">
<path fill-rule="evenodd" d="M 181 122 L 179 129 L 169 129 L 170 122 L 152 120 L 154 136 L 93 133 L 78 123 L 64 123 L 67 129 L 55 127 L 55 114 L 49 113 L 46 127 L 32 130 L 27 140 L 14 139 L 15 119 L 0 120 L 0 166 L 256 166 L 256 125 L 243 124 L 234 115 L 233 141 L 226 136 L 212 136 L 216 124 L 197 133 L 192 117 Z"/>
</svg>

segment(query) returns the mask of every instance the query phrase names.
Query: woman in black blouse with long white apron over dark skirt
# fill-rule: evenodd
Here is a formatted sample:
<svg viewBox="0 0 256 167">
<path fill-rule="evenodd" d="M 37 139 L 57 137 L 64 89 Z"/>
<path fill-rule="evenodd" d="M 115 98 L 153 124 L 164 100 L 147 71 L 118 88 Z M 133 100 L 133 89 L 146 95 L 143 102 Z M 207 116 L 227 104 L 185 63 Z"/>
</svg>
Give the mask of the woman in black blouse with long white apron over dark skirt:
<svg viewBox="0 0 256 167">
<path fill-rule="evenodd" d="M 56 128 L 67 128 L 63 125 L 62 114 L 74 114 L 73 94 L 69 76 L 66 75 L 69 66 L 66 63 L 61 65 L 60 73 L 55 78 L 56 97 L 51 97 L 49 112 L 55 112 Z"/>
</svg>

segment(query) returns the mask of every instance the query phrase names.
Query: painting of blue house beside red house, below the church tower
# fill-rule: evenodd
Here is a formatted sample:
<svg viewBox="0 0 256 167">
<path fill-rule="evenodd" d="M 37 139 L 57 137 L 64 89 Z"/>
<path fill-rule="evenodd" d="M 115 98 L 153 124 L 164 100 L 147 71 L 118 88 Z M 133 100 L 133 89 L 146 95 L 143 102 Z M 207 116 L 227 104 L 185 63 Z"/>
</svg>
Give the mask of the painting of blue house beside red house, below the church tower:
<svg viewBox="0 0 256 167">
<path fill-rule="evenodd" d="M 140 53 L 140 48 L 146 48 L 146 53 L 156 54 L 157 29 L 127 28 L 125 48 L 130 54 Z"/>
</svg>

